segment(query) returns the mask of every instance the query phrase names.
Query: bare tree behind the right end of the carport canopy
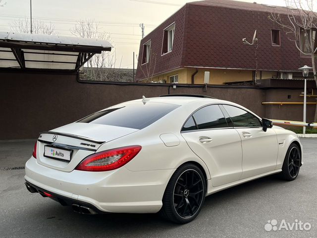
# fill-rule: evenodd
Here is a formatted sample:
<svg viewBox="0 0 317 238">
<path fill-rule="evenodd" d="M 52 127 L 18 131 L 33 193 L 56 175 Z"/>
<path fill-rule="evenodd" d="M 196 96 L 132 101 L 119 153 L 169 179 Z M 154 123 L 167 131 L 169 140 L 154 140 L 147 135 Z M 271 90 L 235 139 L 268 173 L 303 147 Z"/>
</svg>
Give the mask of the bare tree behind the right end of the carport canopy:
<svg viewBox="0 0 317 238">
<path fill-rule="evenodd" d="M 99 23 L 92 19 L 78 21 L 70 32 L 77 37 L 103 39 L 111 42 L 110 34 L 101 31 Z M 103 51 L 101 54 L 96 54 L 88 60 L 88 76 L 94 80 L 108 81 L 109 77 L 113 76 L 115 60 L 115 52 Z"/>
</svg>

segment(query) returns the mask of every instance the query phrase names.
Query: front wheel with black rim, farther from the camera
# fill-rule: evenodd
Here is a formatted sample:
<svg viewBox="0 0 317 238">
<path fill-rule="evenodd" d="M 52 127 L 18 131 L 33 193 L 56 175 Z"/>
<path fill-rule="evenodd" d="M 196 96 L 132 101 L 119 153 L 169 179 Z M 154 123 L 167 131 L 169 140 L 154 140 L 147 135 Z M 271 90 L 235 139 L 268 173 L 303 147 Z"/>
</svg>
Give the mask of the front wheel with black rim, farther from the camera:
<svg viewBox="0 0 317 238">
<path fill-rule="evenodd" d="M 284 180 L 292 181 L 297 178 L 301 166 L 301 152 L 297 144 L 292 143 L 285 155 L 281 177 Z"/>
</svg>

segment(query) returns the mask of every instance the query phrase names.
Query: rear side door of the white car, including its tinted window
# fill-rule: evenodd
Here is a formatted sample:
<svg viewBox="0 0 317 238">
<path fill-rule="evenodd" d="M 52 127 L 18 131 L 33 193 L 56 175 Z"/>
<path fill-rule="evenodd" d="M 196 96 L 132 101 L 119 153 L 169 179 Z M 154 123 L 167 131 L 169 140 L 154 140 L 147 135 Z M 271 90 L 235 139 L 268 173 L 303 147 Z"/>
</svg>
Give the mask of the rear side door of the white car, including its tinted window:
<svg viewBox="0 0 317 238">
<path fill-rule="evenodd" d="M 189 147 L 208 166 L 213 186 L 237 181 L 242 175 L 241 139 L 230 126 L 220 107 L 209 105 L 196 111 L 182 129 Z"/>
</svg>

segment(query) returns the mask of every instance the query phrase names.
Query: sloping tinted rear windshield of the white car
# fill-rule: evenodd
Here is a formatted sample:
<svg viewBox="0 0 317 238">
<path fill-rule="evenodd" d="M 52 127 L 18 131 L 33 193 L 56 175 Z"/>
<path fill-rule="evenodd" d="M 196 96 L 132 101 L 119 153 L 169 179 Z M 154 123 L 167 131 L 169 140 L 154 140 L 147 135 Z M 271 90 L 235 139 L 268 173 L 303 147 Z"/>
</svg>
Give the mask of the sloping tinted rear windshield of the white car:
<svg viewBox="0 0 317 238">
<path fill-rule="evenodd" d="M 77 122 L 143 129 L 178 107 L 166 103 L 127 103 L 123 107 L 94 113 Z"/>
</svg>

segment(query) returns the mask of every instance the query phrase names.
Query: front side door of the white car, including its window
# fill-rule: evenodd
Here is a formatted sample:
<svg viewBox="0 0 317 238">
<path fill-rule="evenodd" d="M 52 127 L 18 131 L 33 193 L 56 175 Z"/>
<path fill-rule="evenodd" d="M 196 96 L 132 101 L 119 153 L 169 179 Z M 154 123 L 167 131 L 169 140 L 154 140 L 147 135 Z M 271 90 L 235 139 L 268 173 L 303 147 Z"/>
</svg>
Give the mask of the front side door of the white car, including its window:
<svg viewBox="0 0 317 238">
<path fill-rule="evenodd" d="M 246 179 L 275 169 L 278 142 L 272 128 L 263 130 L 260 119 L 234 106 L 223 105 L 242 140 L 242 177 Z"/>
</svg>

